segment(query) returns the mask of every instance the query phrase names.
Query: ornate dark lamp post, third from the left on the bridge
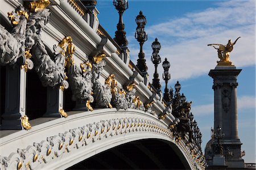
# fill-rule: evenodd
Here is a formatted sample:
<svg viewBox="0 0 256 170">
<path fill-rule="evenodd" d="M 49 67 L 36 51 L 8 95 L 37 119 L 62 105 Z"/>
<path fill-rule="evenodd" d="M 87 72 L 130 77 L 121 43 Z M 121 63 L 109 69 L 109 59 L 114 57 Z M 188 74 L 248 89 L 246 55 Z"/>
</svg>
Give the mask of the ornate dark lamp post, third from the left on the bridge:
<svg viewBox="0 0 256 170">
<path fill-rule="evenodd" d="M 159 92 L 161 91 L 161 84 L 158 78 L 158 65 L 161 62 L 161 57 L 159 56 L 158 53 L 159 53 L 159 50 L 161 49 L 161 45 L 160 45 L 160 42 L 158 42 L 158 39 L 155 38 L 155 41 L 152 43 L 151 47 L 153 49 L 151 61 L 155 65 L 155 73 L 154 73 L 154 79 L 152 80 L 152 85 L 155 87 L 156 91 L 158 91 L 158 94 L 159 94 Z"/>
</svg>

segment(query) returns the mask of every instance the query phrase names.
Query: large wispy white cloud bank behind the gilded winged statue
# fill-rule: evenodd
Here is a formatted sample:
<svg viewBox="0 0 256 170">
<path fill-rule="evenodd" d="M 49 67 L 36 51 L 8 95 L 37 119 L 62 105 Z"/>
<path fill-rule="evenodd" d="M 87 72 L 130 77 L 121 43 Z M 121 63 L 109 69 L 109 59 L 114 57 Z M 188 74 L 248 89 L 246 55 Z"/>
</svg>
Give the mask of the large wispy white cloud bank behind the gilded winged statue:
<svg viewBox="0 0 256 170">
<path fill-rule="evenodd" d="M 207 44 L 226 44 L 229 39 L 237 41 L 230 59 L 234 65 L 249 66 L 255 64 L 255 2 L 228 1 L 216 2 L 216 8 L 185 14 L 181 18 L 170 19 L 167 22 L 151 25 L 146 28 L 148 42 L 144 44 L 147 65 L 152 66 L 150 56 L 151 42 L 158 37 L 162 49 L 162 60 L 167 57 L 171 62 L 172 80 L 188 79 L 207 74 L 209 69 L 217 65 L 217 50 Z M 133 49 L 132 57 L 137 58 L 138 42 L 130 41 Z M 133 57 L 135 56 L 135 57 Z M 134 61 L 136 62 L 136 61 Z M 159 75 L 162 74 L 159 66 Z M 149 69 L 150 79 L 154 69 Z"/>
</svg>

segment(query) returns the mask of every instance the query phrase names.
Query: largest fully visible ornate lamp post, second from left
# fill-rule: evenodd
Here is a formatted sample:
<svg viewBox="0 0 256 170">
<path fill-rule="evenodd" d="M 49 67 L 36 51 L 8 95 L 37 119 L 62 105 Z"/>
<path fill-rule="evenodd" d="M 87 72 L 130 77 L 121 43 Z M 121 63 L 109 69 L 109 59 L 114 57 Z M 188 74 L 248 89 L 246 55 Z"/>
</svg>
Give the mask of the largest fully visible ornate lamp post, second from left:
<svg viewBox="0 0 256 170">
<path fill-rule="evenodd" d="M 136 17 L 135 21 L 137 23 L 135 39 L 138 40 L 140 45 L 139 59 L 137 59 L 137 67 L 142 72 L 142 74 L 146 76 L 147 66 L 146 66 L 145 54 L 143 53 L 143 44 L 145 41 L 147 41 L 147 34 L 144 31 L 144 27 L 147 23 L 147 20 L 146 20 L 146 17 L 142 14 L 142 11 L 139 12 L 139 15 Z"/>
</svg>

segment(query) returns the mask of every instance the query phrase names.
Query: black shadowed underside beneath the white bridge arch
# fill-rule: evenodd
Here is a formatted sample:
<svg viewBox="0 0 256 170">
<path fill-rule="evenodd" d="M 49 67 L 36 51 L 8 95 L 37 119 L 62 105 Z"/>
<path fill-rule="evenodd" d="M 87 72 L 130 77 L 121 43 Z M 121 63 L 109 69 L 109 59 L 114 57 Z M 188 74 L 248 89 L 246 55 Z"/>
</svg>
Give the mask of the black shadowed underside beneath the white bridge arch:
<svg viewBox="0 0 256 170">
<path fill-rule="evenodd" d="M 133 141 L 101 152 L 68 169 L 189 169 L 171 142 Z"/>
</svg>

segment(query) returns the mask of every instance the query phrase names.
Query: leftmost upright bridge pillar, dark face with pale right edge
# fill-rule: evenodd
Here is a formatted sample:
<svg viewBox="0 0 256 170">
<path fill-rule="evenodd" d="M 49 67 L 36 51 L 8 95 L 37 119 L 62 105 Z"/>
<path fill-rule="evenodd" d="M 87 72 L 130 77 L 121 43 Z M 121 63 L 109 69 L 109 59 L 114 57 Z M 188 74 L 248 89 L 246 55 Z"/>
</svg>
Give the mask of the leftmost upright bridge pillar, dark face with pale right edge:
<svg viewBox="0 0 256 170">
<path fill-rule="evenodd" d="M 5 113 L 1 130 L 23 129 L 20 117 L 26 115 L 26 72 L 20 65 L 6 66 Z"/>
</svg>

